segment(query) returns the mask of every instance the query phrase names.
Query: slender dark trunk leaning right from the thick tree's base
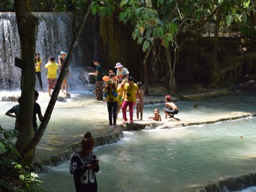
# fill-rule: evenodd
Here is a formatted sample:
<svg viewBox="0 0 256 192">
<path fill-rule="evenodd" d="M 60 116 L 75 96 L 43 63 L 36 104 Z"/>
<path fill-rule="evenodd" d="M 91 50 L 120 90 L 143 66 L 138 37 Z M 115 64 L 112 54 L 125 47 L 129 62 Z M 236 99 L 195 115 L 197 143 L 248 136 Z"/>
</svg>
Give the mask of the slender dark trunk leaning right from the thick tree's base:
<svg viewBox="0 0 256 192">
<path fill-rule="evenodd" d="M 77 46 L 80 34 L 82 33 L 83 27 L 85 26 L 85 21 L 88 17 L 91 4 L 92 4 L 92 0 L 89 0 L 86 4 L 86 7 L 83 10 L 82 18 L 80 20 L 79 26 L 76 29 L 76 32 L 74 33 L 73 40 L 72 40 L 71 45 L 70 45 L 70 49 L 68 50 L 67 59 L 65 60 L 64 65 L 63 65 L 63 70 L 61 70 L 60 76 L 58 77 L 58 81 L 57 81 L 57 84 L 55 86 L 54 92 L 52 92 L 51 100 L 50 100 L 50 102 L 47 106 L 47 109 L 45 111 L 43 121 L 41 122 L 41 124 L 38 128 L 38 131 L 35 134 L 35 137 L 33 137 L 33 139 L 29 142 L 29 144 L 27 144 L 26 147 L 24 147 L 24 150 L 22 152 L 23 154 L 27 153 L 31 149 L 33 149 L 33 147 L 35 147 L 39 143 L 40 139 L 43 136 L 43 133 L 45 132 L 45 129 L 48 125 L 48 122 L 51 118 L 51 114 L 52 114 L 52 111 L 54 109 L 54 105 L 56 103 L 56 100 L 58 99 L 58 94 L 59 94 L 60 89 L 61 89 L 61 84 L 62 84 L 63 79 L 64 79 L 65 71 L 68 68 L 68 64 L 70 63 L 71 58 L 74 55 L 74 51 L 76 49 L 76 46 Z"/>
</svg>

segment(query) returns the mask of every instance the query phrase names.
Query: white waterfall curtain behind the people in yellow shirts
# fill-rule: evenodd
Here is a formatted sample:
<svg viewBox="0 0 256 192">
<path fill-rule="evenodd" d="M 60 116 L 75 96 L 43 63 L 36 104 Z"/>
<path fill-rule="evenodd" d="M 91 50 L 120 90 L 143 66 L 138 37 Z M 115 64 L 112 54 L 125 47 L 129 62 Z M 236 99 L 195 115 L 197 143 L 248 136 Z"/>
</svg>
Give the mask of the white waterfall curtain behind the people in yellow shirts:
<svg viewBox="0 0 256 192">
<path fill-rule="evenodd" d="M 58 62 L 58 53 L 61 51 L 68 53 L 73 37 L 72 15 L 52 12 L 38 12 L 35 15 L 39 18 L 36 52 L 40 53 L 42 65 L 48 62 L 51 55 L 55 56 L 55 62 Z M 88 44 L 86 39 L 95 39 L 92 37 L 94 34 L 89 32 L 89 30 L 92 31 L 92 25 L 93 21 L 91 20 L 86 23 L 83 37 L 80 38 L 74 57 L 71 59 L 68 90 L 86 90 L 88 88 L 86 84 L 89 83 L 90 78 L 85 72 L 92 71 L 92 69 L 86 70 L 85 66 L 93 67 L 94 48 L 93 45 L 86 45 Z M 20 87 L 21 70 L 14 66 L 14 58 L 21 58 L 20 46 L 15 13 L 0 13 L 0 90 L 14 90 Z M 43 66 L 41 66 L 41 75 L 43 88 L 46 89 L 47 71 Z M 35 87 L 39 89 L 37 77 Z"/>
</svg>

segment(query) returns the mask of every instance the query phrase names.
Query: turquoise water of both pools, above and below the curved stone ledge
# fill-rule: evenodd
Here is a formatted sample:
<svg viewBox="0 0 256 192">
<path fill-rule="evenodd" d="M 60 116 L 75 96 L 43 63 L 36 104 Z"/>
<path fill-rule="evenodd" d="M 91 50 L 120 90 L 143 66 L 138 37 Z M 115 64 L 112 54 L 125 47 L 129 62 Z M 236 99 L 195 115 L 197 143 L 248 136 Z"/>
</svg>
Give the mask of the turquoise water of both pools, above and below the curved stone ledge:
<svg viewBox="0 0 256 192">
<path fill-rule="evenodd" d="M 177 102 L 180 112 L 175 117 L 204 120 L 241 112 L 256 114 L 255 93 L 199 100 L 198 108 L 193 108 L 193 100 Z M 48 102 L 47 93 L 40 93 L 38 103 L 43 113 Z M 4 114 L 16 104 L 0 102 L 2 127 L 13 127 L 15 119 Z M 164 104 L 148 105 L 143 119 L 152 115 L 154 108 L 160 109 L 163 116 Z M 125 132 L 118 143 L 95 148 L 100 159 L 100 171 L 96 174 L 99 191 L 191 191 L 220 178 L 254 172 L 255 122 L 255 118 L 244 118 L 211 125 Z M 67 102 L 56 103 L 36 156 L 58 153 L 67 143 L 82 140 L 88 130 L 94 136 L 101 134 L 106 125 L 104 102 L 95 102 L 91 93 L 71 92 Z M 49 167 L 49 172 L 40 174 L 48 191 L 74 191 L 69 163 Z"/>
</svg>

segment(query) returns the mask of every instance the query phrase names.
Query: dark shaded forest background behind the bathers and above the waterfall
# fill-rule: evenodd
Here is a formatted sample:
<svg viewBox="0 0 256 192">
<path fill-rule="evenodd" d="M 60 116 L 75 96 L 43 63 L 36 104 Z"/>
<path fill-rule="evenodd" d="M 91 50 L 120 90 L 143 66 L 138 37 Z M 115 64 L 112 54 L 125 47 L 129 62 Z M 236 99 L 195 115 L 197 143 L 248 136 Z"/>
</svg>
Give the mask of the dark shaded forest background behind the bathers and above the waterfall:
<svg viewBox="0 0 256 192">
<path fill-rule="evenodd" d="M 74 10 L 77 10 L 79 15 L 85 2 L 76 1 L 74 4 L 74 1 L 30 1 L 30 7 L 34 12 L 74 13 Z M 173 95 L 176 95 L 174 91 L 176 86 L 173 87 L 173 84 L 179 86 L 189 83 L 201 84 L 204 87 L 219 87 L 255 79 L 255 2 L 227 1 L 224 4 L 223 1 L 210 1 L 209 4 L 212 4 L 213 10 L 203 11 L 203 8 L 210 5 L 199 1 L 197 4 L 194 3 L 192 11 L 188 12 L 188 8 L 190 8 L 188 1 L 176 1 L 179 7 L 174 8 L 173 11 L 176 11 L 176 14 L 180 11 L 183 23 L 176 25 L 177 30 L 174 28 L 173 34 L 170 32 L 171 37 L 168 35 L 160 37 L 156 34 L 147 36 L 142 33 L 141 30 L 143 32 L 150 30 L 146 24 L 152 27 L 152 22 L 156 22 L 152 20 L 155 15 L 148 15 L 148 23 L 141 22 L 143 28 L 139 22 L 140 19 L 142 21 L 142 18 L 138 18 L 137 24 L 134 23 L 134 20 L 120 22 L 126 20 L 125 16 L 120 16 L 122 12 L 125 14 L 124 9 L 128 10 L 129 6 L 136 7 L 135 4 L 129 4 L 129 1 L 120 1 L 120 4 L 122 2 L 123 7 L 120 7 L 119 10 L 111 10 L 110 15 L 107 12 L 110 5 L 108 7 L 102 5 L 107 7 L 104 10 L 97 8 L 100 4 L 95 1 L 93 4 L 95 11 L 93 11 L 92 5 L 92 12 L 88 16 L 95 23 L 95 28 L 91 32 L 94 33 L 93 38 L 97 39 L 96 41 L 90 39 L 88 44 L 99 44 L 92 46 L 98 49 L 90 52 L 93 52 L 93 56 L 101 58 L 105 68 L 114 68 L 116 62 L 121 62 L 124 67 L 128 68 L 130 74 L 135 76 L 136 81 L 166 84 L 167 87 L 170 86 Z M 164 1 L 145 1 L 144 3 L 147 3 L 148 7 L 158 10 L 158 17 L 163 20 L 163 7 L 170 6 L 172 8 L 171 2 L 175 1 L 167 2 L 170 5 L 164 6 Z M 163 3 L 162 7 L 161 3 Z M 124 5 L 127 7 L 124 8 Z M 0 3 L 0 7 L 0 11 L 14 11 L 12 1 L 3 1 Z M 186 17 L 182 15 L 182 10 L 186 12 Z M 177 21 L 177 17 L 173 17 L 172 14 L 169 13 L 168 17 Z M 189 16 L 191 17 L 189 18 Z M 229 17 L 230 20 L 228 20 Z M 143 34 L 143 40 L 139 36 L 137 36 L 138 42 L 134 40 L 133 30 L 135 32 L 139 30 L 140 34 Z M 84 38 L 83 35 L 85 33 L 82 33 L 80 38 Z M 149 43 L 148 49 L 143 48 L 147 43 L 146 40 L 152 36 L 154 45 L 146 58 L 145 69 L 143 61 L 151 44 Z M 172 45 L 166 46 L 167 38 L 168 43 Z M 150 41 L 152 42 L 152 40 Z M 168 54 L 166 49 L 168 49 Z M 88 52 L 85 52 L 85 55 L 88 60 L 92 57 L 92 55 L 88 55 Z M 174 82 L 170 80 L 172 78 L 170 70 L 175 70 Z M 145 80 L 145 78 L 148 79 Z"/>
</svg>

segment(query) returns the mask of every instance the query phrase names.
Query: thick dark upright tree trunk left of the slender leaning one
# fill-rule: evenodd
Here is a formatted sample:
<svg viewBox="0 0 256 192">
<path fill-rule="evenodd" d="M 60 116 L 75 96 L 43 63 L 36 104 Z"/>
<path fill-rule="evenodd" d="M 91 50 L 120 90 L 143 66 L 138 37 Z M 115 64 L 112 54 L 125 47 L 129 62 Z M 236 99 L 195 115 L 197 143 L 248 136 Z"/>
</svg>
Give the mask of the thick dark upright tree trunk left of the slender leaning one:
<svg viewBox="0 0 256 192">
<path fill-rule="evenodd" d="M 35 90 L 35 46 L 36 34 L 38 33 L 38 18 L 36 18 L 29 5 L 29 0 L 15 0 L 14 8 L 18 24 L 18 34 L 21 42 L 21 58 L 27 62 L 26 67 L 21 71 L 21 104 L 18 115 L 19 135 L 15 143 L 19 152 L 33 138 L 33 106 Z M 23 163 L 32 162 L 33 147 L 23 155 Z"/>
</svg>

